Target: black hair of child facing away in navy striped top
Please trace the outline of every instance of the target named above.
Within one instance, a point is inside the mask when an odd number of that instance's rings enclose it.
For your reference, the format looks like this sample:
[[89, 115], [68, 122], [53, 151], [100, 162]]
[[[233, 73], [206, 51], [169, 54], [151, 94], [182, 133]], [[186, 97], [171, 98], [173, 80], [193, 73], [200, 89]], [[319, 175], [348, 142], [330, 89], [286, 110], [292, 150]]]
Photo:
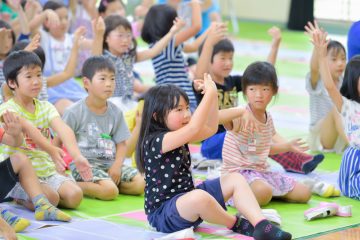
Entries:
[[155, 43], [170, 31], [176, 17], [176, 10], [167, 4], [152, 6], [145, 16], [141, 38], [148, 44]]

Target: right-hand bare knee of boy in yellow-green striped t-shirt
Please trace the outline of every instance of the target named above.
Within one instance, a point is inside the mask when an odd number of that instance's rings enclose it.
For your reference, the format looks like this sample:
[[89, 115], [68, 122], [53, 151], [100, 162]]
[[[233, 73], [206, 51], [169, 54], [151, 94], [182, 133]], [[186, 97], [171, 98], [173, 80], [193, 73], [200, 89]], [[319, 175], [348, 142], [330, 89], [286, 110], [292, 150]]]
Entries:
[[83, 192], [76, 183], [65, 181], [61, 184], [58, 193], [60, 195], [59, 205], [65, 208], [77, 208], [83, 198]]

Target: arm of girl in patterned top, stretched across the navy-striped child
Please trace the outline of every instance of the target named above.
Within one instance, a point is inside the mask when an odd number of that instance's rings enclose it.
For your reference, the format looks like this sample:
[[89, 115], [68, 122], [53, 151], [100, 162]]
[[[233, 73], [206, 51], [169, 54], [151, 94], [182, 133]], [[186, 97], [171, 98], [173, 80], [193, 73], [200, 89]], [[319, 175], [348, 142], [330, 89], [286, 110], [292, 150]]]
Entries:
[[180, 31], [180, 29], [185, 25], [185, 22], [179, 18], [174, 20], [174, 25], [171, 27], [170, 31], [162, 37], [156, 44], [147, 50], [140, 51], [136, 53], [136, 62], [145, 61], [147, 59], [151, 59], [156, 57], [161, 53], [161, 51], [166, 48], [174, 35]]

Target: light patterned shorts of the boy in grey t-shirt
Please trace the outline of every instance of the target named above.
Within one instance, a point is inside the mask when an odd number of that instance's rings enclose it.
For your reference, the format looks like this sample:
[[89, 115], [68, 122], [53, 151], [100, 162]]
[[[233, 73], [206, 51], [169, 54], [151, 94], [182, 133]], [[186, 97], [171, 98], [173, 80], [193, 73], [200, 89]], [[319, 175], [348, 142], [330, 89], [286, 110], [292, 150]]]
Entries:
[[[75, 181], [83, 182], [79, 172], [76, 170], [74, 164], [70, 164], [71, 175], [74, 177]], [[92, 167], [93, 179], [92, 182], [98, 182], [100, 180], [111, 179], [107, 170], [100, 167]], [[131, 180], [138, 174], [138, 170], [133, 167], [122, 165], [121, 167], [121, 182], [131, 182]]]

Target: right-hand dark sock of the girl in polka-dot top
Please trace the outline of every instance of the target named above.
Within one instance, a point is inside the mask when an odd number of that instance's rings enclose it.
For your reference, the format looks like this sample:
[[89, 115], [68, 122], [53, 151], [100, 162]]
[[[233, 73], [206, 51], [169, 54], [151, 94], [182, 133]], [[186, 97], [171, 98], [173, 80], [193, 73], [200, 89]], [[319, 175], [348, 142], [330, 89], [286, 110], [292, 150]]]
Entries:
[[264, 219], [258, 224], [256, 224], [253, 238], [255, 240], [290, 240], [291, 234], [282, 231], [280, 228], [276, 227], [268, 220]]

